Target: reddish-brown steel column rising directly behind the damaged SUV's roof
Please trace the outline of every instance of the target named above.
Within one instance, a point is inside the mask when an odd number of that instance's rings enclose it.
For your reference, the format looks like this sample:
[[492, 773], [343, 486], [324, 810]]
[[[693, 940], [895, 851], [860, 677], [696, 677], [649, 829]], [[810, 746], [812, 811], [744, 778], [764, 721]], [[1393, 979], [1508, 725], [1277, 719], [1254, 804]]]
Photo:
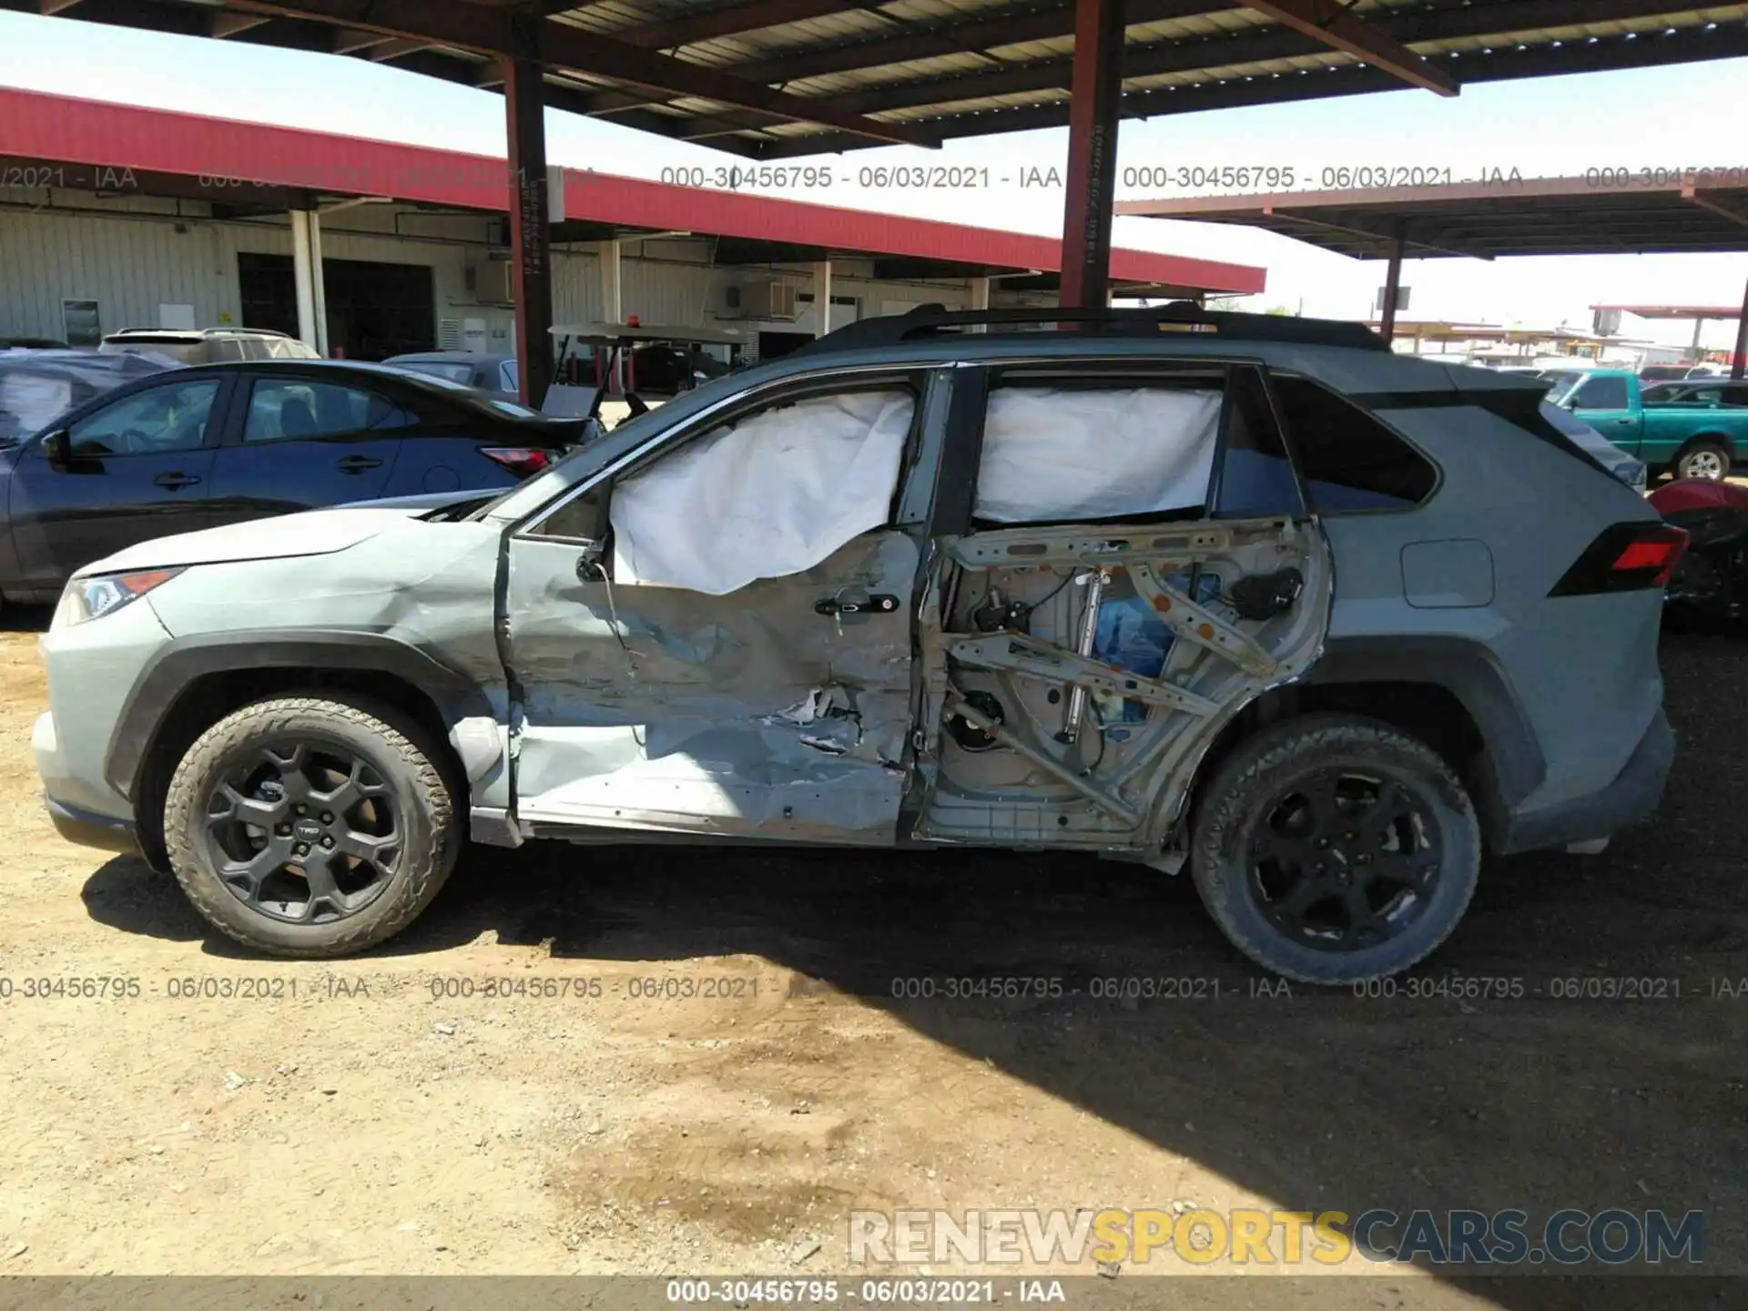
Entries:
[[1073, 101], [1068, 108], [1068, 196], [1058, 304], [1101, 309], [1110, 285], [1110, 218], [1117, 182], [1124, 0], [1075, 0]]

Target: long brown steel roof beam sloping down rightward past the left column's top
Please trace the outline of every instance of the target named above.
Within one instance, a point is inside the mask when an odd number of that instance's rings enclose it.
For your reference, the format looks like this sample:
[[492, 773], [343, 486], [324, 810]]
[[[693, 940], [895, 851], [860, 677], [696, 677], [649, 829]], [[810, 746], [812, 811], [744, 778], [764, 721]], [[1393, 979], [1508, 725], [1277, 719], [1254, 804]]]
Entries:
[[519, 19], [524, 16], [481, 3], [437, 7], [423, 3], [423, 0], [288, 0], [287, 3], [243, 0], [234, 7], [248, 12], [337, 23], [493, 56], [526, 56], [528, 37], [531, 37], [538, 45], [540, 58], [554, 68], [605, 77], [669, 96], [715, 100], [736, 108], [769, 114], [774, 119], [815, 122], [862, 140], [926, 147], [940, 143], [933, 133], [923, 128], [843, 114], [825, 96], [792, 96], [760, 82], [563, 23], [533, 19], [537, 26], [523, 24]]

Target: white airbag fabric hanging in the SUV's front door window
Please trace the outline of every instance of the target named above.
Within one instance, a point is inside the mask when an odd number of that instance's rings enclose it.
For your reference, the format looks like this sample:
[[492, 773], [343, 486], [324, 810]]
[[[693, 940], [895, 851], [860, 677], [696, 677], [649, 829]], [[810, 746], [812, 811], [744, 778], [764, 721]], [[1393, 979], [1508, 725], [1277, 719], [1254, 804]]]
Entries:
[[614, 488], [614, 580], [722, 596], [813, 568], [886, 523], [909, 392], [799, 400]]

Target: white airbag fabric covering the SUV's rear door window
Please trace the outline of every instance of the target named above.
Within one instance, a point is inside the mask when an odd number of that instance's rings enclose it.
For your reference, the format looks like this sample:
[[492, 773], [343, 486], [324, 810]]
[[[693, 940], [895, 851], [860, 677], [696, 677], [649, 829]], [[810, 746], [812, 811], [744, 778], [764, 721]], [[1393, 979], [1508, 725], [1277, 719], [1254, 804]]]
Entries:
[[996, 388], [975, 517], [1075, 523], [1201, 505], [1218, 432], [1218, 392]]

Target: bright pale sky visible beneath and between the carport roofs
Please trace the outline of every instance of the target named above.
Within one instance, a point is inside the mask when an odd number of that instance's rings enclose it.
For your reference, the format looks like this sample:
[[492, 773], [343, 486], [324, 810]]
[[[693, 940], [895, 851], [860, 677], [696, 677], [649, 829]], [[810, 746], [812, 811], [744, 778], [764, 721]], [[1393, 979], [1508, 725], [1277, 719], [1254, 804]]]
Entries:
[[[77, 10], [70, 10], [77, 12]], [[0, 86], [154, 108], [374, 136], [477, 154], [503, 154], [503, 101], [488, 91], [420, 77], [367, 59], [280, 51], [243, 42], [0, 12]], [[1313, 100], [1294, 105], [1180, 114], [1122, 124], [1119, 199], [1189, 194], [1133, 185], [1124, 173], [1225, 164], [1292, 166], [1316, 177], [1339, 166], [1421, 166], [1458, 178], [1519, 170], [1523, 177], [1582, 175], [1585, 168], [1743, 168], [1741, 115], [1748, 59], [1613, 73], [1493, 82], [1442, 98], [1426, 91]], [[988, 189], [919, 192], [862, 189], [864, 168], [958, 164], [993, 178], [1066, 164], [1066, 129], [949, 142], [942, 150], [883, 147], [836, 161], [851, 185], [785, 192], [797, 199], [886, 213], [1059, 234], [1061, 185], [991, 182]], [[662, 178], [662, 170], [745, 166], [746, 161], [617, 124], [547, 110], [547, 156], [568, 168]], [[785, 161], [808, 163], [808, 161]], [[1301, 182], [1301, 187], [1304, 184]], [[1211, 194], [1206, 189], [1203, 194]], [[1308, 315], [1370, 313], [1383, 264], [1349, 260], [1273, 232], [1119, 217], [1115, 241], [1269, 271], [1269, 288], [1246, 309], [1285, 306]], [[1585, 255], [1503, 260], [1409, 260], [1405, 318], [1589, 327], [1591, 306], [1718, 304], [1743, 301], [1748, 255]], [[1641, 341], [1687, 344], [1690, 323], [1627, 318]], [[1727, 348], [1732, 323], [1710, 323], [1708, 346]]]

